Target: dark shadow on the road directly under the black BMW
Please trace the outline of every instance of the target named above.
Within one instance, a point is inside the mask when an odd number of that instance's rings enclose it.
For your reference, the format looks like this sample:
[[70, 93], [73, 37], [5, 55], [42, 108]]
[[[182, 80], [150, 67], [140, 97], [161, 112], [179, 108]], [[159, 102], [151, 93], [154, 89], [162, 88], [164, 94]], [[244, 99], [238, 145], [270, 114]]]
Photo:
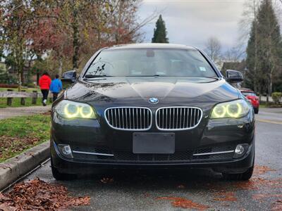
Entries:
[[100, 170], [97, 174], [80, 175], [75, 181], [96, 185], [111, 184], [112, 188], [148, 187], [169, 188], [200, 188], [207, 184], [224, 182], [220, 173], [207, 169], [189, 170]]

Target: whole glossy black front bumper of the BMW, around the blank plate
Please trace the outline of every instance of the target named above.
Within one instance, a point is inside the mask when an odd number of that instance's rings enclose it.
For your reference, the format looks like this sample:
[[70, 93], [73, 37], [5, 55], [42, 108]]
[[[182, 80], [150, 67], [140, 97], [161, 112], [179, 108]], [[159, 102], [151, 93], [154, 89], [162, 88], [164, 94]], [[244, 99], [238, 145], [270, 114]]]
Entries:
[[[148, 132], [159, 132], [152, 127]], [[102, 121], [66, 121], [53, 115], [51, 130], [51, 159], [61, 173], [90, 173], [96, 168], [149, 167], [209, 167], [219, 172], [245, 172], [253, 165], [255, 156], [255, 124], [253, 113], [233, 120], [208, 120], [187, 131], [176, 134], [176, 152], [163, 154], [134, 154], [133, 132], [109, 129]], [[232, 151], [239, 143], [249, 144], [241, 158], [234, 153], [198, 155]], [[68, 144], [73, 151], [113, 154], [112, 157], [73, 153], [64, 157], [58, 144]]]

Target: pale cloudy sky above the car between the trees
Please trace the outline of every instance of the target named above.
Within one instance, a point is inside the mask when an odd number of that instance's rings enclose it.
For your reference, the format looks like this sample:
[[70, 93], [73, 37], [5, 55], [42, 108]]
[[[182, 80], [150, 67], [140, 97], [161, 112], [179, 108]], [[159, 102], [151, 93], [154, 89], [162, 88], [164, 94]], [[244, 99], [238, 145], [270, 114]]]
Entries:
[[[204, 49], [209, 37], [221, 41], [222, 50], [236, 46], [239, 39], [238, 22], [245, 0], [144, 0], [140, 6], [141, 19], [157, 11], [166, 23], [168, 39], [173, 44], [185, 44]], [[151, 42], [155, 21], [142, 28], [143, 42]]]

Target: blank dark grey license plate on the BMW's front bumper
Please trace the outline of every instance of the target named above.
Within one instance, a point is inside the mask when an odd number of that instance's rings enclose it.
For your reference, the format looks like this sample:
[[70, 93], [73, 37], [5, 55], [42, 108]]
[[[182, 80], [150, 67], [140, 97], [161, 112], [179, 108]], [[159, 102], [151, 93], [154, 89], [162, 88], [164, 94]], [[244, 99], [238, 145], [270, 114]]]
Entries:
[[133, 153], [172, 154], [174, 151], [173, 133], [133, 133]]

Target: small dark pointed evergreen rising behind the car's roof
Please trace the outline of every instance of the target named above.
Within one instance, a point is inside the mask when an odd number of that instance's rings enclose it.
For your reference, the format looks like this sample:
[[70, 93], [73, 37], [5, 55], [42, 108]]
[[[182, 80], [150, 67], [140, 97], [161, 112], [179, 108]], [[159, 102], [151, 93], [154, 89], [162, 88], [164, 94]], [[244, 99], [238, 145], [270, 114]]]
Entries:
[[161, 15], [159, 15], [156, 28], [154, 28], [154, 37], [152, 38], [152, 43], [168, 43], [168, 38], [166, 35], [166, 25], [164, 20], [161, 18]]

